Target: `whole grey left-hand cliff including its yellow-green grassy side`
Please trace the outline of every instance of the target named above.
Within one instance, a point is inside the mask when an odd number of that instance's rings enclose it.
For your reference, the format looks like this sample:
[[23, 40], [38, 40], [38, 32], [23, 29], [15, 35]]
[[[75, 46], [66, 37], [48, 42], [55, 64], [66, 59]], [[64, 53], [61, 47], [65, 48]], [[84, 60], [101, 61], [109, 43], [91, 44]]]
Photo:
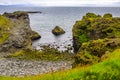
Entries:
[[20, 49], [32, 48], [32, 40], [40, 38], [40, 35], [32, 31], [29, 21], [26, 12], [17, 11], [0, 15], [1, 56], [9, 55]]

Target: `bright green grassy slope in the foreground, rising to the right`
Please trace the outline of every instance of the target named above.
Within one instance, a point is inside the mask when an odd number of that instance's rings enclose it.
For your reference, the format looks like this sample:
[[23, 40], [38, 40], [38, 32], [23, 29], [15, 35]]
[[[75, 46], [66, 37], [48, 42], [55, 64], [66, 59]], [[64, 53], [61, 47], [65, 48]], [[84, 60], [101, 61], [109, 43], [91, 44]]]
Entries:
[[120, 49], [107, 57], [103, 62], [91, 66], [22, 78], [1, 76], [0, 80], [120, 80]]

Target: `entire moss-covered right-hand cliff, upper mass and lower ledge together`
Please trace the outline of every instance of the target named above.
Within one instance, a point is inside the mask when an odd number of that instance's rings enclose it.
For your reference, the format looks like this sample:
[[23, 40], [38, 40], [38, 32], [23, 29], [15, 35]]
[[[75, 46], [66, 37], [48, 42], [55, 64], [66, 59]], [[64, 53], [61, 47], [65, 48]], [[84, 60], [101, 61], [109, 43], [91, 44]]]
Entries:
[[112, 14], [87, 13], [73, 26], [75, 63], [93, 64], [120, 48], [120, 18]]

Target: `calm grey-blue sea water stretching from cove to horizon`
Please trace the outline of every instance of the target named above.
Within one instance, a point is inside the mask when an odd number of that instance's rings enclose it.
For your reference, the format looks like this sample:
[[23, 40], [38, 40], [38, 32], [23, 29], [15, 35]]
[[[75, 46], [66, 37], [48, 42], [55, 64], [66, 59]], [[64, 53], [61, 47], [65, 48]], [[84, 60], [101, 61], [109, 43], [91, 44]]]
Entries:
[[[53, 44], [65, 50], [64, 46], [72, 45], [72, 27], [75, 21], [80, 20], [88, 12], [103, 15], [111, 13], [120, 16], [120, 7], [0, 7], [0, 13], [14, 11], [41, 11], [42, 13], [29, 14], [30, 25], [42, 38], [33, 42], [33, 47]], [[56, 26], [65, 30], [65, 34], [54, 36], [51, 31]]]

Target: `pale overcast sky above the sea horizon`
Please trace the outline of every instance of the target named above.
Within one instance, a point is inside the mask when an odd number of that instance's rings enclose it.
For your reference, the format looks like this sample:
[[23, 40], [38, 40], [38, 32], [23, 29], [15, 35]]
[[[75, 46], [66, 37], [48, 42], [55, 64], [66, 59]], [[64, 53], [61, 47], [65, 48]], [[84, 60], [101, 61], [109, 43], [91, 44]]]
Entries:
[[120, 0], [0, 0], [0, 5], [33, 4], [37, 6], [120, 6]]

